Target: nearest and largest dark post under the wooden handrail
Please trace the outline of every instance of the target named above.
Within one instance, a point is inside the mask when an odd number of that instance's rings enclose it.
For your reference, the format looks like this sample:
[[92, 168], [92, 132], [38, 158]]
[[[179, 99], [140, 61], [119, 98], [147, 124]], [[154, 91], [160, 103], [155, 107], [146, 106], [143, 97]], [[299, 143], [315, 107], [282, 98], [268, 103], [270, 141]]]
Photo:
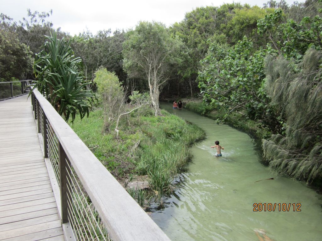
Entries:
[[59, 142], [59, 183], [61, 191], [61, 205], [62, 205], [62, 224], [68, 223], [68, 187], [67, 187], [67, 162], [65, 150]]

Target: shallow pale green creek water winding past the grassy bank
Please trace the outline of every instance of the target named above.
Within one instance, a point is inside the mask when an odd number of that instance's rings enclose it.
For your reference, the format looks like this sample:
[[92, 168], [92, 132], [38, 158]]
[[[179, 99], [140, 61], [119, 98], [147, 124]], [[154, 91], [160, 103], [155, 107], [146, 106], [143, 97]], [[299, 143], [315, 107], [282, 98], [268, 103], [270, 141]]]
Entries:
[[[175, 191], [164, 198], [164, 208], [151, 207], [151, 218], [171, 240], [259, 240], [255, 228], [266, 230], [274, 241], [322, 240], [321, 195], [262, 165], [254, 139], [246, 133], [185, 109], [173, 110], [169, 103], [161, 105], [207, 135], [192, 147], [192, 163], [175, 178]], [[222, 157], [210, 148], [215, 140], [224, 147]], [[290, 211], [278, 211], [278, 206], [253, 211], [253, 203], [300, 203], [301, 211], [293, 206]]]

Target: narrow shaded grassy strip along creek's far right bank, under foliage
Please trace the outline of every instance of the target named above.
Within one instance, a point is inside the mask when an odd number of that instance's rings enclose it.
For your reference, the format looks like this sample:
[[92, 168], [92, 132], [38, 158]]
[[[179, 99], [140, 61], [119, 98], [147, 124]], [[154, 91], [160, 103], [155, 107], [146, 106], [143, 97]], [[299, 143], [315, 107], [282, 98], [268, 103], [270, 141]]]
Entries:
[[186, 99], [184, 100], [184, 103], [185, 107], [191, 111], [208, 116], [214, 120], [224, 120], [223, 123], [229, 124], [237, 129], [247, 131], [258, 139], [268, 138], [271, 135], [269, 129], [264, 127], [259, 122], [245, 118], [245, 116], [242, 115], [242, 113], [232, 112], [227, 117], [225, 117], [225, 115], [228, 113], [226, 110], [213, 110], [200, 100]]

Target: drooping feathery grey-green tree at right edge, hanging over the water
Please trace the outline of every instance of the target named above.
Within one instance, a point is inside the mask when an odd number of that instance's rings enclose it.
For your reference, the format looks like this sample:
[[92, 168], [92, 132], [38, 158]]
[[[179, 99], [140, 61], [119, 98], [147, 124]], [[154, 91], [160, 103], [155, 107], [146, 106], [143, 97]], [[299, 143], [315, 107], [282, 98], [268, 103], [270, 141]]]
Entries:
[[308, 49], [298, 64], [282, 56], [265, 59], [266, 89], [281, 113], [284, 132], [263, 140], [264, 158], [280, 172], [308, 182], [322, 176], [321, 56], [320, 50]]

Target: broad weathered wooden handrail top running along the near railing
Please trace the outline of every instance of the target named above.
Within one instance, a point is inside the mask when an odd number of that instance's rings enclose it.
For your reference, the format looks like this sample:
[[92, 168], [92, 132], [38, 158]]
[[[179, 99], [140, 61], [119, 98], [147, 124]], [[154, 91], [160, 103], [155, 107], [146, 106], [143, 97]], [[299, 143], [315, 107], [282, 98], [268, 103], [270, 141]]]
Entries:
[[[33, 94], [110, 237], [116, 241], [170, 240], [94, 156], [43, 95], [38, 90], [33, 90]], [[62, 210], [66, 209], [64, 205], [67, 203], [62, 202]]]

